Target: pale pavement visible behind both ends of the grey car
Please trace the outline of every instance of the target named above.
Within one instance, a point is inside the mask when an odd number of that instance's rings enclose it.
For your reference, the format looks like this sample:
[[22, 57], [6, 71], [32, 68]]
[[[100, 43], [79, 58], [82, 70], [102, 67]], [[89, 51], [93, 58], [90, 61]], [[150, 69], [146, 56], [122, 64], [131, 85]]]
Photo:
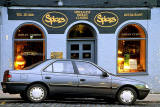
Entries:
[[[19, 98], [21, 98], [19, 94], [3, 93], [2, 90], [0, 90], [0, 100], [19, 99]], [[151, 93], [144, 100], [137, 100], [137, 101], [160, 103], [160, 94]]]

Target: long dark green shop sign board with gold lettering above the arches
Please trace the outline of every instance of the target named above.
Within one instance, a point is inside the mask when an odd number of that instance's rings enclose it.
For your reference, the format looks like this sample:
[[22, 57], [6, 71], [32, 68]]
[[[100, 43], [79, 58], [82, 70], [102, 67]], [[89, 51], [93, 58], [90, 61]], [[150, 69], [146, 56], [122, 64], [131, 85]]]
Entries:
[[125, 21], [149, 20], [150, 18], [150, 9], [8, 9], [9, 20], [37, 21], [46, 28], [49, 34], [63, 34], [70, 24], [80, 20], [93, 23], [101, 34], [114, 33], [117, 27]]

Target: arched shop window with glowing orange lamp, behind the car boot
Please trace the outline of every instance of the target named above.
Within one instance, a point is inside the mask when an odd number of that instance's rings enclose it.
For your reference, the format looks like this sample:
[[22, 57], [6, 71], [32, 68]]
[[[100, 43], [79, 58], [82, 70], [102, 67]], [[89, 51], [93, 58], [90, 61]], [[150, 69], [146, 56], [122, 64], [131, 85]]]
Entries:
[[21, 70], [45, 60], [43, 32], [35, 25], [20, 27], [14, 39], [14, 69]]

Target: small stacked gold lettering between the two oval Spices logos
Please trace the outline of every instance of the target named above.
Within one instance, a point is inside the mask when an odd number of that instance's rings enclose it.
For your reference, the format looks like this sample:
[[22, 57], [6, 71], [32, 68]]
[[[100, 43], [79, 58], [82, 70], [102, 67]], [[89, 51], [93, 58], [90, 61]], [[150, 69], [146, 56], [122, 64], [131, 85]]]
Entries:
[[76, 10], [76, 11], [74, 11], [74, 13], [76, 14], [76, 19], [88, 19], [88, 15], [91, 13], [91, 11]]

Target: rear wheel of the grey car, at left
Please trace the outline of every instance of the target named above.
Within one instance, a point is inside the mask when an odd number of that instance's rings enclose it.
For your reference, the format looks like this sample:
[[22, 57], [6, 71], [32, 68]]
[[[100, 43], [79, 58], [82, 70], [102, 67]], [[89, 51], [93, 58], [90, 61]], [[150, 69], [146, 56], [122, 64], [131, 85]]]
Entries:
[[38, 103], [45, 100], [47, 97], [47, 89], [41, 84], [34, 84], [27, 90], [27, 98], [29, 101]]

